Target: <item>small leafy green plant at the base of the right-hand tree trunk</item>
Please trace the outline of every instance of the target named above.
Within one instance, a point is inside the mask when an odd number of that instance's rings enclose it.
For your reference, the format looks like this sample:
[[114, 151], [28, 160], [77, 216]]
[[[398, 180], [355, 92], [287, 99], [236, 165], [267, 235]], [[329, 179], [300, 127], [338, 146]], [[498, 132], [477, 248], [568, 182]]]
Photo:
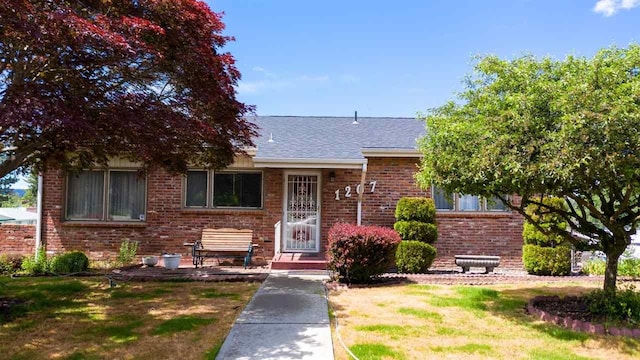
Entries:
[[595, 290], [585, 296], [589, 311], [607, 322], [640, 324], [640, 293], [633, 285], [615, 293]]

